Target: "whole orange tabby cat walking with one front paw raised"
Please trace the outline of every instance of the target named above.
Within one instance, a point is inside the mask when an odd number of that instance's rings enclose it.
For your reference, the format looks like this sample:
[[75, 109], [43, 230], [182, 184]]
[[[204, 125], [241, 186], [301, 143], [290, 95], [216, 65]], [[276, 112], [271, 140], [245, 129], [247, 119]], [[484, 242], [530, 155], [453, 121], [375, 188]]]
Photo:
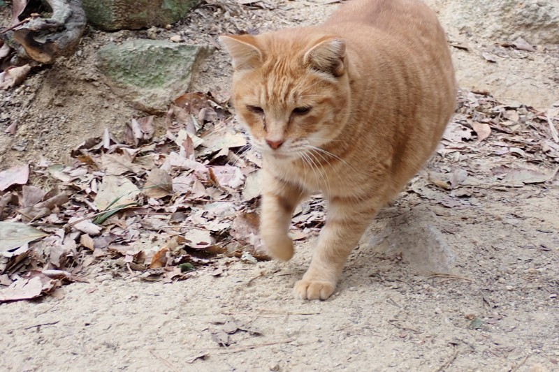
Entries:
[[263, 157], [261, 238], [289, 260], [291, 215], [322, 191], [326, 225], [293, 288], [327, 299], [379, 208], [433, 153], [455, 107], [444, 31], [420, 0], [350, 0], [324, 24], [222, 36], [238, 117]]

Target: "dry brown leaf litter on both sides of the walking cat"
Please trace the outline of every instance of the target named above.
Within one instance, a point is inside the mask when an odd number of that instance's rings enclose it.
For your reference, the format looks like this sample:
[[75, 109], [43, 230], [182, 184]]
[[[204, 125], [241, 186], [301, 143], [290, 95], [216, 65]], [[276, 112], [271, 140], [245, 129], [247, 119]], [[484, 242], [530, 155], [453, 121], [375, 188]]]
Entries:
[[[228, 260], [215, 276], [235, 260], [267, 260], [256, 213], [261, 158], [235, 131], [224, 101], [187, 93], [170, 105], [162, 131], [153, 117], [138, 118], [122, 142], [106, 131], [85, 139], [68, 163], [0, 172], [0, 236], [9, 236], [0, 239], [0, 302], [50, 294], [94, 266], [172, 282], [221, 257]], [[407, 193], [464, 209], [479, 207], [488, 188], [557, 185], [559, 144], [549, 123], [558, 119], [553, 109], [460, 91], [439, 156]], [[303, 202], [291, 237], [316, 235], [325, 210], [321, 195]], [[64, 275], [44, 274], [53, 270]], [[224, 334], [216, 336], [222, 345]]]

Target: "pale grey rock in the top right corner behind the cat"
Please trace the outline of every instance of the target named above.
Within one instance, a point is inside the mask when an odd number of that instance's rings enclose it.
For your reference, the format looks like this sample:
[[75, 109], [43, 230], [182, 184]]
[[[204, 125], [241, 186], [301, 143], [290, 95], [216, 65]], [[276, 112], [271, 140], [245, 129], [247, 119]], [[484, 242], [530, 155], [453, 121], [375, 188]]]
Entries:
[[488, 40], [511, 42], [522, 37], [529, 43], [559, 43], [557, 0], [438, 0], [444, 24]]

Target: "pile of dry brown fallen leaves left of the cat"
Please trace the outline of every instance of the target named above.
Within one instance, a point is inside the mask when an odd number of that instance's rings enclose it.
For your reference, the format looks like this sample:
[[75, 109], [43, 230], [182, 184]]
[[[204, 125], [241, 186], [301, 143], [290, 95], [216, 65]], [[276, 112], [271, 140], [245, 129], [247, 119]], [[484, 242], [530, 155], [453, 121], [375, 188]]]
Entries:
[[[184, 94], [163, 137], [143, 117], [122, 142], [108, 131], [86, 140], [69, 164], [0, 172], [0, 302], [50, 292], [102, 260], [122, 276], [175, 281], [215, 255], [266, 259], [255, 213], [261, 159], [226, 101]], [[324, 220], [314, 204], [298, 210], [295, 239]]]

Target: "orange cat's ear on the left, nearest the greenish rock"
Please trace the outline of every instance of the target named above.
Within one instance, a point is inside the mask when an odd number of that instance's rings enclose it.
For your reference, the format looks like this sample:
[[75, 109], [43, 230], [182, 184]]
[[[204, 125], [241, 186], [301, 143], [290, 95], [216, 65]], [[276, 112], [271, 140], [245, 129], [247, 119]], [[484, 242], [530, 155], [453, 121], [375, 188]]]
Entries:
[[262, 63], [262, 51], [254, 36], [223, 35], [219, 36], [219, 41], [231, 54], [235, 70], [256, 68]]

